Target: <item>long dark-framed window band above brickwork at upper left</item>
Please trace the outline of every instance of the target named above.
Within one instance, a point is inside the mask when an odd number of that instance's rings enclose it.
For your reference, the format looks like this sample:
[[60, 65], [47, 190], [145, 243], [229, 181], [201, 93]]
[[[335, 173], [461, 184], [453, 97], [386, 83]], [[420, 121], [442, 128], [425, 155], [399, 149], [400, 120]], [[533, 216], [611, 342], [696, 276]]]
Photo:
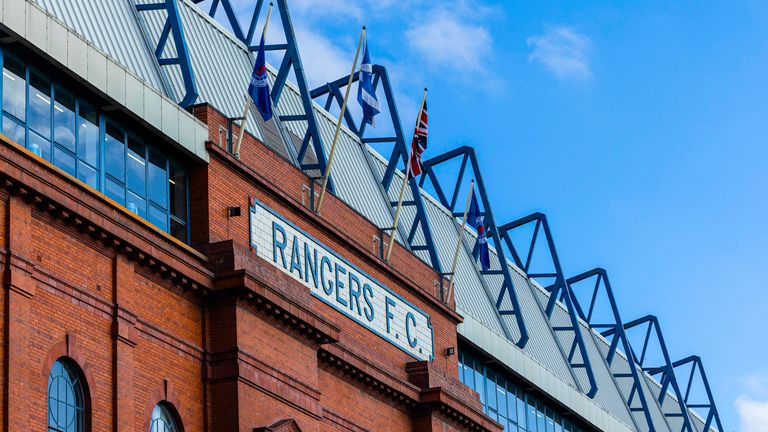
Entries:
[[118, 123], [56, 76], [7, 51], [0, 132], [183, 242], [186, 168]]

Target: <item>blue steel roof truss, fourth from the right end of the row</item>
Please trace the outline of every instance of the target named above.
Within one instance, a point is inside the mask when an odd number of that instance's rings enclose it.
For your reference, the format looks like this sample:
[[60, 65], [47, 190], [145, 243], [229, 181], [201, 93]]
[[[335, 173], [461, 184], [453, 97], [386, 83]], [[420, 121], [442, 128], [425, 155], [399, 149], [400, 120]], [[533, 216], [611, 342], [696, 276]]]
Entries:
[[[535, 223], [535, 226], [533, 229], [533, 236], [531, 237], [531, 244], [528, 248], [528, 255], [525, 262], [523, 262], [520, 258], [520, 254], [518, 254], [517, 249], [515, 248], [510, 234], [513, 230], [527, 226], [530, 223]], [[538, 244], [537, 240], [539, 238], [539, 232], [542, 228], [546, 238], [553, 271], [549, 273], [531, 273], [531, 262], [534, 256], [535, 247]], [[547, 306], [545, 308], [545, 314], [549, 319], [550, 325], [552, 325], [552, 330], [557, 335], [555, 340], [559, 345], [561, 345], [561, 348], [562, 342], [560, 340], [560, 335], [562, 333], [568, 332], [573, 333], [573, 342], [571, 343], [571, 348], [568, 350], [568, 364], [571, 366], [571, 369], [584, 370], [587, 375], [587, 382], [589, 387], [586, 390], [582, 388], [582, 390], [587, 396], [595, 397], [597, 394], [597, 380], [595, 380], [595, 373], [592, 370], [592, 364], [589, 361], [589, 355], [587, 355], [587, 346], [584, 343], [584, 336], [582, 335], [581, 328], [579, 327], [577, 310], [574, 307], [575, 296], [573, 295], [573, 291], [571, 290], [571, 287], [563, 274], [563, 269], [560, 265], [560, 259], [558, 258], [557, 250], [555, 249], [555, 242], [552, 239], [552, 232], [550, 231], [549, 224], [547, 223], [547, 217], [543, 213], [533, 213], [516, 221], [512, 221], [500, 226], [499, 235], [504, 239], [507, 247], [509, 248], [509, 251], [512, 253], [512, 258], [515, 260], [515, 264], [517, 264], [517, 266], [520, 267], [525, 272], [525, 274], [528, 275], [529, 278], [535, 280], [554, 278], [554, 282], [546, 287], [547, 291], [549, 291], [549, 301], [547, 302]], [[558, 326], [554, 325], [552, 322], [552, 316], [557, 300], [562, 301], [568, 309], [570, 325]], [[580, 358], [576, 357], [577, 350]], [[579, 387], [582, 387], [579, 380], [576, 380], [576, 383], [579, 385]]]

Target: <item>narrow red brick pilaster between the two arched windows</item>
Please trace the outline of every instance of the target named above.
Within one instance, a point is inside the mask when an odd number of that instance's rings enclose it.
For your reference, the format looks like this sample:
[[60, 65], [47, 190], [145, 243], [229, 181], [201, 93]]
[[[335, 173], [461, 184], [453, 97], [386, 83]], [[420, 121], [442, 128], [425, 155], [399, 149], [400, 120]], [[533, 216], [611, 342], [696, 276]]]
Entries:
[[114, 315], [112, 338], [115, 344], [114, 367], [114, 430], [136, 430], [136, 409], [134, 405], [134, 349], [136, 347], [136, 315], [134, 310], [133, 287], [134, 264], [125, 255], [117, 254], [114, 259]]

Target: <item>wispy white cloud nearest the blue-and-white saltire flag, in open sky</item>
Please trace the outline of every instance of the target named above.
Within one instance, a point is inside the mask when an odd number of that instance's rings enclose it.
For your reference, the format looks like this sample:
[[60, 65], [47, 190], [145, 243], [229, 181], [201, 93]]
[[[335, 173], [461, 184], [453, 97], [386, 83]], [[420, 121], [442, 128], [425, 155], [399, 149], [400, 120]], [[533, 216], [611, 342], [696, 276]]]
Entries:
[[437, 11], [405, 33], [411, 48], [434, 66], [447, 66], [461, 74], [485, 70], [491, 35], [480, 25], [462, 22], [447, 11]]

